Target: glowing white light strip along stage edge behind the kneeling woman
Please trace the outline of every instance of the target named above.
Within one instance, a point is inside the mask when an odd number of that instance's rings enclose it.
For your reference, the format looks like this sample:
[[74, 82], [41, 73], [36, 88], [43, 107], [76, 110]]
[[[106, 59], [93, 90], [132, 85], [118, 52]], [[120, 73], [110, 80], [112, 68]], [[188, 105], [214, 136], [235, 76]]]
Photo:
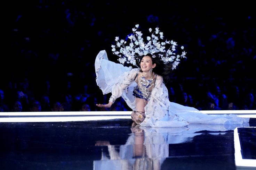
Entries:
[[[256, 110], [202, 110], [205, 114], [237, 114], [239, 117], [256, 118]], [[131, 111], [91, 112], [2, 112], [0, 122], [59, 122], [131, 119]]]

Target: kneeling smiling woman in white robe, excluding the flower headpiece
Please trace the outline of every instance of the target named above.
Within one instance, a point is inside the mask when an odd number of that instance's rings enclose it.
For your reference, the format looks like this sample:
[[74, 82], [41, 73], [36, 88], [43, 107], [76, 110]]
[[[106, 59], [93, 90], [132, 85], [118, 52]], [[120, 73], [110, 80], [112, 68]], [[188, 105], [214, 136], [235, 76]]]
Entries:
[[[111, 92], [112, 95], [109, 103], [96, 105], [102, 108], [110, 108], [115, 100], [122, 96], [127, 105], [133, 110], [133, 120], [141, 126], [183, 127], [189, 125], [189, 123], [248, 123], [248, 118], [240, 118], [237, 115], [210, 116], [195, 108], [169, 102], [164, 78], [167, 78], [169, 74], [168, 71], [165, 72], [165, 69], [170, 66], [162, 65], [159, 58], [153, 58], [151, 54], [143, 56], [140, 65], [141, 69], [125, 67], [109, 61], [106, 51], [99, 52], [95, 61], [96, 81], [103, 94]], [[161, 69], [162, 72], [159, 71]], [[117, 71], [113, 72], [113, 70]], [[155, 73], [158, 71], [163, 76]], [[143, 118], [140, 119], [140, 115]], [[140, 120], [141, 123], [136, 120]]]

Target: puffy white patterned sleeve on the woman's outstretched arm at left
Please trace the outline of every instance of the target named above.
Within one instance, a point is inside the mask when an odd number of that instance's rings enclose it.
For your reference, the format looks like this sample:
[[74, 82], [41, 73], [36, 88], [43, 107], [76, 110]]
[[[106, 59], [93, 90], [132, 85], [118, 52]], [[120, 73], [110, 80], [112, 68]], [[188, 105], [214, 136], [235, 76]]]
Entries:
[[114, 103], [115, 100], [118, 97], [121, 97], [123, 92], [127, 90], [127, 87], [130, 86], [131, 83], [134, 83], [137, 75], [137, 70], [138, 69], [132, 69], [131, 71], [127, 71], [123, 73], [121, 76], [119, 76], [119, 78], [117, 79], [117, 81], [112, 87], [112, 90], [111, 90], [112, 95], [109, 99], [110, 102]]

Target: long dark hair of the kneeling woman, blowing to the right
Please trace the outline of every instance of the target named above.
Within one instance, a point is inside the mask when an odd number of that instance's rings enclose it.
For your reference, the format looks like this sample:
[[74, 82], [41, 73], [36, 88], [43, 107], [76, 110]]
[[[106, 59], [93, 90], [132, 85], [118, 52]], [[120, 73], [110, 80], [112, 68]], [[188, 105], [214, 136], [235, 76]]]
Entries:
[[154, 53], [154, 56], [156, 56], [156, 57], [153, 57], [153, 55], [151, 53], [143, 55], [143, 56], [141, 56], [139, 61], [141, 61], [141, 59], [144, 56], [149, 56], [152, 59], [152, 63], [153, 64], [155, 63], [156, 66], [155, 66], [155, 68], [153, 68], [154, 73], [162, 76], [163, 77], [163, 82], [165, 84], [169, 83], [169, 81], [170, 81], [169, 75], [172, 72], [173, 64], [171, 62], [163, 63], [163, 61], [159, 57], [158, 53]]

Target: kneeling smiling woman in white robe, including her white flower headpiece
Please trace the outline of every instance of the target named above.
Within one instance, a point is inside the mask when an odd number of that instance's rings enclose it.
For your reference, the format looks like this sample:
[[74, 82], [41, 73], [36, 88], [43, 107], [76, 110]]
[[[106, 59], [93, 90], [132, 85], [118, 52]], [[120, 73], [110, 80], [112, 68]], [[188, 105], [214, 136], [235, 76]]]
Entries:
[[[136, 27], [138, 28], [138, 25]], [[171, 70], [185, 57], [186, 52], [177, 55], [176, 42], [159, 42], [163, 34], [158, 28], [155, 30], [151, 38], [147, 37], [147, 44], [141, 37], [142, 33], [134, 28], [135, 34], [129, 36], [131, 43], [128, 46], [124, 40], [119, 42], [118, 37], [117, 46], [112, 46], [112, 51], [120, 57], [121, 63], [139, 63], [139, 68], [132, 69], [109, 61], [104, 50], [98, 53], [95, 60], [97, 85], [103, 94], [112, 93], [109, 103], [96, 104], [98, 107], [109, 108], [115, 99], [122, 96], [133, 110], [133, 120], [141, 126], [151, 127], [183, 127], [190, 123], [243, 124], [249, 121], [236, 115], [209, 116], [195, 108], [169, 102], [168, 90], [164, 83], [168, 80]], [[171, 47], [165, 49], [166, 44], [171, 44]], [[116, 48], [120, 50], [116, 51]], [[181, 49], [183, 50], [183, 47]]]

